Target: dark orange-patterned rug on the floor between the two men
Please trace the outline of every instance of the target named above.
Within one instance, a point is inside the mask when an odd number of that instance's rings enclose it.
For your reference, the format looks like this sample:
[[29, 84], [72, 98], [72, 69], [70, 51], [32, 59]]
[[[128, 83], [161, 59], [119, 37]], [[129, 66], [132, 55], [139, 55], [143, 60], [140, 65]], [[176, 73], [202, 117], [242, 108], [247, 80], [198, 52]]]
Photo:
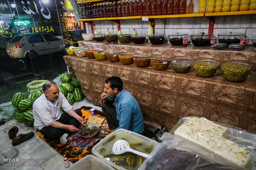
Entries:
[[[90, 115], [88, 113], [89, 107], [81, 108], [81, 112], [83, 113], [83, 117], [85, 119], [89, 119], [89, 117], [97, 117], [97, 118], [104, 118], [104, 124], [107, 124], [107, 120], [105, 117], [102, 116], [102, 112], [95, 110], [95, 115]], [[82, 129], [83, 126], [80, 125], [78, 129]], [[105, 138], [109, 133], [113, 130], [110, 130], [107, 126], [100, 127], [100, 131], [103, 130], [104, 133], [99, 132], [95, 138], [92, 139], [83, 139], [79, 135], [79, 131], [69, 135], [67, 140], [68, 142], [66, 145], [60, 143], [59, 139], [52, 140], [45, 137], [40, 131], [36, 131], [38, 136], [47, 142], [53, 149], [55, 149], [59, 154], [63, 157], [67, 157], [69, 161], [75, 163], [76, 161], [82, 159], [84, 156], [92, 154], [92, 147], [94, 147], [100, 140]]]

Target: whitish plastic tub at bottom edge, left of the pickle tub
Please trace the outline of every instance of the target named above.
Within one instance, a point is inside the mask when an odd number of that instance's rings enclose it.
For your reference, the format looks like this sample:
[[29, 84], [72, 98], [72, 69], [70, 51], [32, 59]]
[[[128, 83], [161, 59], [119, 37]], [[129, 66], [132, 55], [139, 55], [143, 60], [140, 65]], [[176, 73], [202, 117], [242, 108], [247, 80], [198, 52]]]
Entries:
[[68, 170], [114, 170], [114, 168], [96, 156], [87, 155], [71, 165]]

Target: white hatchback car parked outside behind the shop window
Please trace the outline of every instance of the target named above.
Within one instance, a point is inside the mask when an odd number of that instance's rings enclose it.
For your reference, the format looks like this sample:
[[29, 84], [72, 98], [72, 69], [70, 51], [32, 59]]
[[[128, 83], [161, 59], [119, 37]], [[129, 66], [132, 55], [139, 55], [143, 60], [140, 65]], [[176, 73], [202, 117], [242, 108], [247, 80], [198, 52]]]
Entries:
[[27, 33], [13, 37], [7, 44], [7, 54], [13, 58], [46, 55], [64, 51], [68, 46], [66, 40], [59, 39], [47, 33]]

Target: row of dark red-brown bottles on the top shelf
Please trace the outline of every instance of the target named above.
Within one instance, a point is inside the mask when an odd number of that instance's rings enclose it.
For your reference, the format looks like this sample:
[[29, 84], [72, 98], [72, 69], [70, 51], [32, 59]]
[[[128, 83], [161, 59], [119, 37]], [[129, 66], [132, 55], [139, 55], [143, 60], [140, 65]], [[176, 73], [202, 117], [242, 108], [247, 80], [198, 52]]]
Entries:
[[82, 18], [123, 17], [123, 16], [156, 16], [186, 13], [187, 0], [123, 0], [107, 2], [100, 5], [80, 5]]

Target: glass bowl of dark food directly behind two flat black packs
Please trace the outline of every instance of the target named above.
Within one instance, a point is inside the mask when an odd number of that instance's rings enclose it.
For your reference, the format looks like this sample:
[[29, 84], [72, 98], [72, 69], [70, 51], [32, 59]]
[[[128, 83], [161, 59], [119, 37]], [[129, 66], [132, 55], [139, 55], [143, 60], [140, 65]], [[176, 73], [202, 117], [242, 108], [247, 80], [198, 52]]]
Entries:
[[227, 32], [227, 33], [220, 33], [218, 34], [218, 41], [220, 43], [240, 43], [240, 39], [244, 37], [243, 33], [234, 33], [234, 32]]

